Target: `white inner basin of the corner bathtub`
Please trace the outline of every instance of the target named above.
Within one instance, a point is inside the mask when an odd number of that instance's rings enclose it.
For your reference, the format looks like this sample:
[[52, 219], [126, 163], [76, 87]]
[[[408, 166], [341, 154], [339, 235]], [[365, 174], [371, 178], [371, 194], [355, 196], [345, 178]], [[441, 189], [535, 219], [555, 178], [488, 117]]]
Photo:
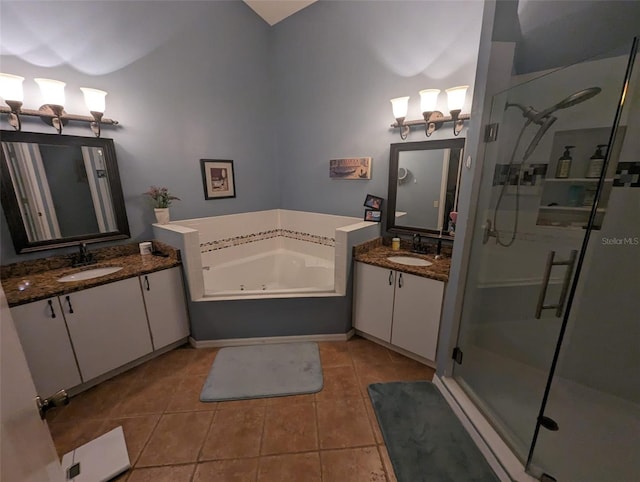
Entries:
[[334, 269], [333, 260], [275, 249], [217, 266], [203, 266], [204, 294], [227, 300], [332, 295]]

